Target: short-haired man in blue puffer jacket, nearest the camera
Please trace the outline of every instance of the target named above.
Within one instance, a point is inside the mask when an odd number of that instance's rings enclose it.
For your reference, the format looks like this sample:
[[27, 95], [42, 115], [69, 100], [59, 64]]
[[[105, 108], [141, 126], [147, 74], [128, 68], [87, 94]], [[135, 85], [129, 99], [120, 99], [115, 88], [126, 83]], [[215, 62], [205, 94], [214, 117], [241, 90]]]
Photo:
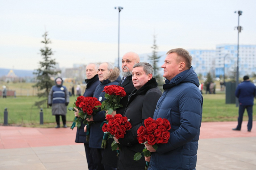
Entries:
[[158, 100], [154, 119], [170, 121], [170, 139], [152, 152], [148, 170], [195, 170], [198, 139], [202, 119], [203, 97], [197, 74], [191, 67], [192, 57], [182, 48], [167, 52], [162, 68], [166, 84]]

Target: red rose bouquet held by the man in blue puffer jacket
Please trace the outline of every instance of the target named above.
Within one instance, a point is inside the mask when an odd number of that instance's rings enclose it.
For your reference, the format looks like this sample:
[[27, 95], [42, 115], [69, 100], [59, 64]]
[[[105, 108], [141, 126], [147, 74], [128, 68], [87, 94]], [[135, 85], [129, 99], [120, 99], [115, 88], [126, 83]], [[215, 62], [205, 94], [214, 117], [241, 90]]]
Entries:
[[[158, 145], [161, 143], [167, 143], [170, 138], [171, 129], [170, 122], [165, 118], [157, 118], [156, 120], [152, 118], [147, 118], [144, 120], [144, 126], [139, 127], [137, 130], [137, 139], [139, 143], [148, 143], [152, 145], [155, 150], [157, 150]], [[142, 153], [145, 157], [151, 155], [151, 152], [148, 151], [145, 147]], [[139, 160], [142, 157], [142, 153], [136, 153], [133, 157], [133, 160]], [[148, 169], [149, 162], [146, 163], [145, 170]]]

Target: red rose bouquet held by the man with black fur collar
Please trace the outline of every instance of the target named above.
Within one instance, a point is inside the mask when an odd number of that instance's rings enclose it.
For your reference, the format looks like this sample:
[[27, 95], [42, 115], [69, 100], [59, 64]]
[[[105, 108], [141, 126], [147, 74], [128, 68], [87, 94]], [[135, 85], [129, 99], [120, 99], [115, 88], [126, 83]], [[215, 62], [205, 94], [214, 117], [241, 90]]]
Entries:
[[[127, 119], [126, 116], [122, 116], [121, 114], [116, 114], [114, 117], [112, 115], [107, 114], [106, 115], [106, 120], [107, 122], [103, 124], [102, 126], [102, 131], [104, 132], [104, 135], [106, 134], [107, 136], [103, 136], [103, 140], [101, 143], [101, 148], [106, 147], [106, 141], [108, 138], [112, 138], [115, 135], [117, 139], [123, 138], [124, 134], [126, 134], [126, 130], [130, 130], [132, 125], [129, 122], [130, 119]], [[117, 148], [120, 148], [120, 145], [114, 141], [111, 144], [112, 151], [117, 150]]]

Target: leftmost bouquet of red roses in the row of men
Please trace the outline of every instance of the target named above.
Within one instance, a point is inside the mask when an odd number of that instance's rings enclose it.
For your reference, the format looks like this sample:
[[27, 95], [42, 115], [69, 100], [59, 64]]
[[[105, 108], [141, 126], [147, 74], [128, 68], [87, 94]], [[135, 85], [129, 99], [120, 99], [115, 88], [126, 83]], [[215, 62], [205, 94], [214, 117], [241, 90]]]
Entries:
[[[97, 107], [96, 107], [97, 106]], [[94, 115], [96, 112], [98, 112], [99, 108], [101, 106], [100, 101], [98, 101], [97, 98], [95, 97], [84, 97], [84, 96], [79, 96], [76, 99], [76, 102], [73, 104], [73, 107], [76, 107], [79, 111], [78, 115], [80, 117], [74, 118], [74, 122], [70, 129], [73, 130], [73, 128], [76, 126], [77, 123], [77, 128], [80, 128], [81, 122], [83, 121], [84, 124], [87, 124], [87, 136], [86, 140], [89, 141], [89, 133], [90, 133], [90, 124], [91, 122], [87, 122], [86, 118], [91, 118], [91, 115]], [[68, 108], [68, 110], [73, 110], [72, 107]]]

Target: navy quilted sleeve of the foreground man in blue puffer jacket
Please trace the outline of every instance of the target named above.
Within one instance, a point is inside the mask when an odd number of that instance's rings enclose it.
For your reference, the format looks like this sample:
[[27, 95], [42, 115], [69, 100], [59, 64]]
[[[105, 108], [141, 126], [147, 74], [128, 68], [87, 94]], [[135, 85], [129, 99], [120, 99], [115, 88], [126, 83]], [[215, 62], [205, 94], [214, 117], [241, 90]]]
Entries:
[[203, 105], [201, 94], [199, 95], [195, 88], [186, 88], [179, 98], [180, 122], [176, 123], [180, 124], [180, 127], [170, 133], [167, 144], [158, 145], [156, 152], [159, 154], [165, 154], [185, 145], [196, 135], [199, 137]]

